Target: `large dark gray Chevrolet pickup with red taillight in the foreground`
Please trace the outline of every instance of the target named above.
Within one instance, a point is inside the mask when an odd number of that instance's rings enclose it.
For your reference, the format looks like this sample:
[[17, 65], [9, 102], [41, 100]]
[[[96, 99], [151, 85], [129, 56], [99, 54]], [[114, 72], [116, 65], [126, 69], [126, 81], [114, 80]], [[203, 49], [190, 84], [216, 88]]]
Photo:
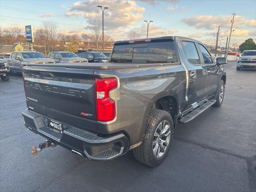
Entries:
[[221, 106], [226, 63], [215, 62], [199, 41], [170, 36], [118, 41], [109, 63], [28, 64], [24, 124], [47, 139], [32, 154], [58, 144], [110, 160], [133, 150], [138, 161], [156, 166], [177, 123]]

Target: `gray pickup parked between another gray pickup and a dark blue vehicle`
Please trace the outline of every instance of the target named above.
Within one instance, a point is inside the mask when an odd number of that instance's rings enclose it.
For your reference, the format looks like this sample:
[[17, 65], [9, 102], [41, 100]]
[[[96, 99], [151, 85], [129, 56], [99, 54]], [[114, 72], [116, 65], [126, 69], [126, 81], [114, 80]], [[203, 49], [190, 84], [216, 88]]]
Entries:
[[72, 52], [50, 52], [49, 58], [54, 59], [56, 63], [88, 63], [86, 58], [80, 58]]

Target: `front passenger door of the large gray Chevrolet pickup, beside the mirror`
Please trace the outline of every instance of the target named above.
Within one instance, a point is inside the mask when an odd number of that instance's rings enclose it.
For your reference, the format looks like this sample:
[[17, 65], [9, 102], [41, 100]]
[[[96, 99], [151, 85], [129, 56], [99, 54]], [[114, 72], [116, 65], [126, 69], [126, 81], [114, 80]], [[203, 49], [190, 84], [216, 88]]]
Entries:
[[206, 94], [207, 97], [216, 94], [219, 84], [219, 76], [217, 73], [218, 66], [216, 65], [214, 59], [208, 50], [200, 43], [198, 43], [198, 48], [202, 59], [204, 60], [204, 66], [207, 72], [207, 83], [206, 83]]

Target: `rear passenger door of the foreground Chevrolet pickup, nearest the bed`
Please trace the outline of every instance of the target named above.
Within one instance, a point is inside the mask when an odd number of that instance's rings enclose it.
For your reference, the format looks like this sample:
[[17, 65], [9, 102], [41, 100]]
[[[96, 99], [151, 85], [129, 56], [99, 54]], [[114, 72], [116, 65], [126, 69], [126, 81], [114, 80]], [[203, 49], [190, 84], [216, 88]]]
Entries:
[[196, 42], [193, 40], [180, 40], [186, 56], [186, 67], [188, 69], [188, 107], [196, 106], [206, 98], [207, 74], [202, 64]]

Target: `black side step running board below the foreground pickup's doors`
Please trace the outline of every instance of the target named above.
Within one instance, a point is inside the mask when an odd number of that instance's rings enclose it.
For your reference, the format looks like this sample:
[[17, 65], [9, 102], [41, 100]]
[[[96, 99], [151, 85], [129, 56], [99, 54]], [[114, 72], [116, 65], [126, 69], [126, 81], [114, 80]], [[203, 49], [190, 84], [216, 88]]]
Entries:
[[196, 118], [198, 115], [200, 115], [202, 112], [204, 112], [206, 109], [210, 108], [210, 106], [212, 106], [215, 102], [216, 102], [216, 100], [212, 99], [212, 100], [209, 100], [208, 102], [206, 102], [205, 104], [202, 104], [200, 107], [196, 108], [189, 114], [186, 114], [185, 116], [183, 116], [180, 119], [180, 123], [185, 124], [187, 122], [190, 122], [191, 120]]

